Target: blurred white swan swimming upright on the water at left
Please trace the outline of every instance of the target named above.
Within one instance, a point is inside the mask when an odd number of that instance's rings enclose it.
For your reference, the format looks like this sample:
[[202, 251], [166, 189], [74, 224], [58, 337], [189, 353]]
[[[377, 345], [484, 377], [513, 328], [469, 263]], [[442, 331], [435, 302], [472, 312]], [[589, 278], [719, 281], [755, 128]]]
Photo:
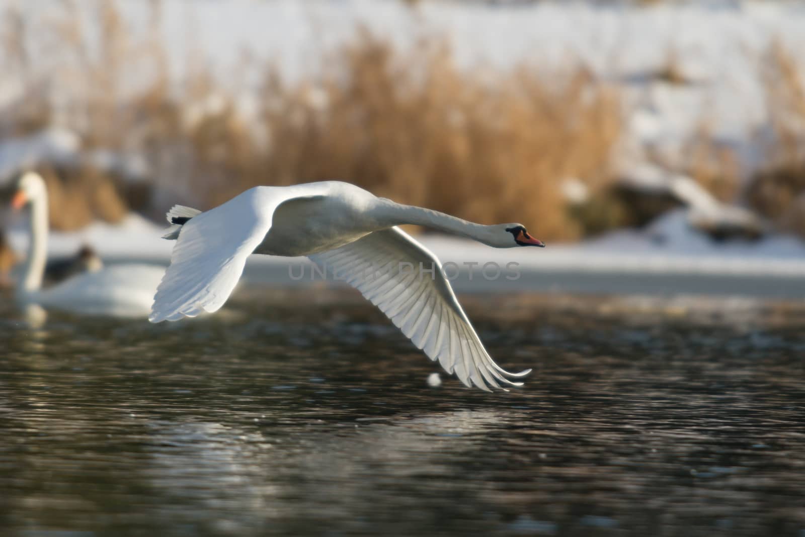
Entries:
[[155, 290], [165, 274], [161, 266], [114, 265], [42, 289], [47, 262], [47, 188], [42, 177], [31, 171], [19, 178], [11, 200], [14, 209], [22, 209], [26, 204], [31, 204], [31, 240], [22, 284], [16, 291], [20, 304], [39, 304], [43, 308], [88, 315], [148, 315]]

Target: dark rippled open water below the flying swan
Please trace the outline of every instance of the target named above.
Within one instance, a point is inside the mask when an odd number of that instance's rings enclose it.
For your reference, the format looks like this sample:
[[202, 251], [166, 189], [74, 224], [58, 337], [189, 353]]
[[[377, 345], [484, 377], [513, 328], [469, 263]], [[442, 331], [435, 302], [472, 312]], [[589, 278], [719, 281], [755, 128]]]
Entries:
[[805, 308], [465, 299], [526, 387], [443, 375], [368, 304], [0, 313], [0, 535], [805, 535]]

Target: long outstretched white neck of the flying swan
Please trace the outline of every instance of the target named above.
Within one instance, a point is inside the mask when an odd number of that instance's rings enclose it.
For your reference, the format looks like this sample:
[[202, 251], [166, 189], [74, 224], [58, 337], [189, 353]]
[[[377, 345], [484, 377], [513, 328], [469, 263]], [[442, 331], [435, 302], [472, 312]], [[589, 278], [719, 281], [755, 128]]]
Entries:
[[439, 229], [460, 237], [471, 238], [489, 246], [499, 246], [496, 242], [496, 228], [452, 217], [431, 209], [414, 205], [403, 205], [391, 200], [381, 200], [378, 206], [380, 220], [385, 225], [414, 224], [431, 229]]

